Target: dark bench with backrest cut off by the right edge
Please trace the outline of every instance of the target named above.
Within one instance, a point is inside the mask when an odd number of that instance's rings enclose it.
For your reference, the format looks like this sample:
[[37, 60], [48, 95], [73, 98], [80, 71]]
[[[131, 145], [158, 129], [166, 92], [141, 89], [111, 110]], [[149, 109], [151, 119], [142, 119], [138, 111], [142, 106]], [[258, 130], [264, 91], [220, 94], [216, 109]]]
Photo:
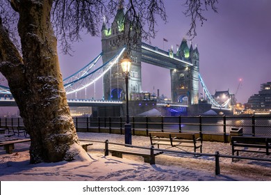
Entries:
[[[263, 148], [265, 150], [253, 150], [252, 148]], [[239, 155], [240, 151], [270, 155], [271, 137], [233, 136], [231, 137], [231, 149], [232, 155], [234, 155], [234, 153]]]

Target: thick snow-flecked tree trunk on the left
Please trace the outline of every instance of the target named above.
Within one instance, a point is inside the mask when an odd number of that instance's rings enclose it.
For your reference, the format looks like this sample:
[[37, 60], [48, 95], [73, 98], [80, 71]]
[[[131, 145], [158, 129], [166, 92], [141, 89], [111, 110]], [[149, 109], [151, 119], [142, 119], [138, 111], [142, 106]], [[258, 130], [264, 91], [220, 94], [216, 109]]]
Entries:
[[[31, 137], [31, 163], [69, 161], [83, 154], [60, 73], [57, 40], [50, 22], [51, 3], [13, 1], [13, 8], [19, 13], [22, 57], [11, 42], [6, 44], [12, 50], [2, 48], [0, 55], [0, 70], [8, 79]], [[0, 34], [3, 33], [1, 29]], [[3, 39], [0, 38], [1, 47], [6, 41]]]

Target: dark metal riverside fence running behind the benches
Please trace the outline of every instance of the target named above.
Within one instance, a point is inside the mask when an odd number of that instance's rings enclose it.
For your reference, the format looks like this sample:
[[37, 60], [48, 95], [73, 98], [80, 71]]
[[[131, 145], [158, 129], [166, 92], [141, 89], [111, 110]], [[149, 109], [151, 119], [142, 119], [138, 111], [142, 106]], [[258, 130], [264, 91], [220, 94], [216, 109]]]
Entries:
[[[271, 136], [271, 116], [133, 116], [130, 118], [132, 132], [136, 130], [161, 132], [194, 132], [202, 134], [230, 134], [232, 127], [242, 127], [243, 134], [251, 136]], [[92, 128], [106, 128], [124, 133], [123, 117], [74, 118], [76, 130], [90, 132]], [[22, 126], [22, 118], [0, 118], [0, 126]]]

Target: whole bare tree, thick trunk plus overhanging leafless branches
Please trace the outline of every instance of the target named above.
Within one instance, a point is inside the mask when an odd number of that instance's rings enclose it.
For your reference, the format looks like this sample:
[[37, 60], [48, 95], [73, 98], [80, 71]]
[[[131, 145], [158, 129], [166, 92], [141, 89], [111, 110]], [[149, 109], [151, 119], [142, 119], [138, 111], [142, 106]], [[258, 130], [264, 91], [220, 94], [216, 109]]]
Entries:
[[[202, 7], [201, 1], [193, 2], [188, 0], [186, 5], [194, 13], [192, 20], [196, 20]], [[214, 8], [215, 0], [204, 2]], [[103, 17], [109, 21], [120, 3], [122, 0], [0, 2], [0, 71], [8, 80], [30, 134], [31, 163], [86, 157], [67, 105], [57, 38], [62, 51], [69, 53], [82, 31], [97, 36]], [[163, 0], [129, 0], [126, 16], [145, 40], [156, 35], [156, 17], [166, 21]]]

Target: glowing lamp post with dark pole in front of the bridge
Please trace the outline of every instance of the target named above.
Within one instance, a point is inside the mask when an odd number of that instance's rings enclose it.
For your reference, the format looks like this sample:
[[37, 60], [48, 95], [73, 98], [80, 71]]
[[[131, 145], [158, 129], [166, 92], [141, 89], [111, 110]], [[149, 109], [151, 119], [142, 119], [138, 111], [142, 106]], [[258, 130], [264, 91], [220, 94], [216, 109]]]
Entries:
[[126, 85], [126, 124], [124, 125], [125, 130], [125, 144], [132, 144], [132, 132], [131, 124], [129, 121], [129, 95], [128, 95], [128, 75], [131, 68], [131, 59], [129, 59], [128, 54], [124, 52], [123, 59], [120, 61], [122, 65], [122, 70], [125, 74], [125, 85]]

